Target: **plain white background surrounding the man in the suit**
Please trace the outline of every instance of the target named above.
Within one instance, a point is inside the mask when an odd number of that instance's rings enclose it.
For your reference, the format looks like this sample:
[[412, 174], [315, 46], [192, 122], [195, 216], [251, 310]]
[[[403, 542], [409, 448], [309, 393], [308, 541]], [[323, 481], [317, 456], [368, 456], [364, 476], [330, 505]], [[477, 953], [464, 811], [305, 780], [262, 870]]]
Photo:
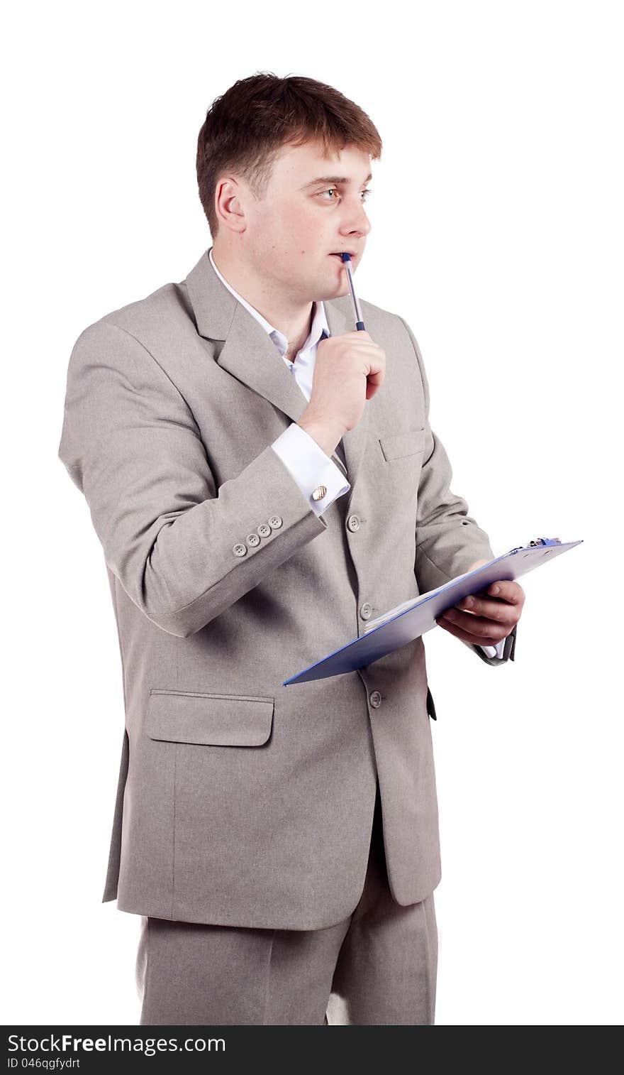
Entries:
[[3, 1021], [139, 1022], [140, 919], [100, 902], [124, 699], [101, 546], [57, 458], [64, 378], [87, 325], [211, 245], [199, 129], [273, 71], [336, 86], [381, 134], [358, 291], [413, 329], [453, 490], [496, 554], [583, 539], [523, 579], [513, 663], [426, 636], [436, 1023], [620, 1023], [621, 5], [293, 13], [5, 17]]

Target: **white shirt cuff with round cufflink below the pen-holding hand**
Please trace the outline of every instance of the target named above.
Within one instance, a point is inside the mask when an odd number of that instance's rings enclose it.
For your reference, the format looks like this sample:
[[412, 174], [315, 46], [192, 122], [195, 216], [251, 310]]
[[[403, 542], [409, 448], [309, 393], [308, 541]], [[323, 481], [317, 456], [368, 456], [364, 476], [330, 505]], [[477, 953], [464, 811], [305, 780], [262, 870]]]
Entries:
[[[340, 469], [325, 455], [320, 444], [295, 421], [279, 434], [271, 447], [290, 471], [317, 515], [326, 512], [337, 497], [351, 488]], [[313, 500], [311, 494], [320, 485], [324, 485], [328, 491], [321, 500]]]

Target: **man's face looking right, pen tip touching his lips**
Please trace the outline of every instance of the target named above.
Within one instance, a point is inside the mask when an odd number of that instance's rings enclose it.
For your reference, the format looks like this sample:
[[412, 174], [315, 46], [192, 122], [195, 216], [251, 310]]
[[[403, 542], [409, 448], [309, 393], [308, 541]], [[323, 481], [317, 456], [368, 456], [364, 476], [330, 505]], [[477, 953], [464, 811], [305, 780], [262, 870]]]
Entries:
[[351, 253], [354, 272], [371, 230], [364, 206], [371, 172], [362, 149], [345, 146], [324, 157], [322, 145], [306, 143], [282, 147], [261, 201], [237, 180], [237, 197], [221, 205], [238, 214], [232, 238], [245, 271], [294, 304], [348, 295], [338, 252]]

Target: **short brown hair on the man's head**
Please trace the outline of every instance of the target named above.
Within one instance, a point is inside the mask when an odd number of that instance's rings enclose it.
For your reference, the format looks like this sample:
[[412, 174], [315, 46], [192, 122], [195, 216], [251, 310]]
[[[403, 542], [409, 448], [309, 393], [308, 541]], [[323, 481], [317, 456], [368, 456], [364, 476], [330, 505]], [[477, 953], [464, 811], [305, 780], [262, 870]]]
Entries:
[[253, 197], [261, 199], [281, 147], [316, 140], [322, 142], [325, 155], [355, 145], [373, 160], [381, 156], [379, 132], [366, 113], [315, 78], [279, 78], [260, 71], [215, 98], [199, 133], [197, 154], [200, 201], [213, 240], [219, 229], [215, 190], [223, 171], [238, 172]]

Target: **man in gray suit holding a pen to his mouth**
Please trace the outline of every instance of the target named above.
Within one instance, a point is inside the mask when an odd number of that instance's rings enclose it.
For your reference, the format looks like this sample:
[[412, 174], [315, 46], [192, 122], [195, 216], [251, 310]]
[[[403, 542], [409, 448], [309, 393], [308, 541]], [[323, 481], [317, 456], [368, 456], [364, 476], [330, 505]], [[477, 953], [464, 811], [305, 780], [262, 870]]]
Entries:
[[[214, 245], [70, 359], [59, 456], [126, 699], [103, 899], [142, 916], [143, 1023], [434, 1021], [422, 639], [282, 685], [494, 555], [449, 488], [410, 328], [362, 301], [354, 330], [337, 255], [361, 262], [380, 150], [332, 87], [237, 82], [199, 138]], [[499, 587], [440, 619], [489, 663], [524, 599]]]

